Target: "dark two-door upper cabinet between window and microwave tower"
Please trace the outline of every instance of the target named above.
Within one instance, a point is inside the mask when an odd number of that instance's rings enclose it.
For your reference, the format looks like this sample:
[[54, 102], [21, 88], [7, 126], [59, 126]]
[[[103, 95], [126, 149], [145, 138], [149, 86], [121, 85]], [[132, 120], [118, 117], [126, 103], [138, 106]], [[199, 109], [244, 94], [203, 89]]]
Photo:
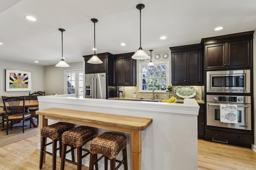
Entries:
[[170, 47], [172, 85], [203, 85], [202, 45]]

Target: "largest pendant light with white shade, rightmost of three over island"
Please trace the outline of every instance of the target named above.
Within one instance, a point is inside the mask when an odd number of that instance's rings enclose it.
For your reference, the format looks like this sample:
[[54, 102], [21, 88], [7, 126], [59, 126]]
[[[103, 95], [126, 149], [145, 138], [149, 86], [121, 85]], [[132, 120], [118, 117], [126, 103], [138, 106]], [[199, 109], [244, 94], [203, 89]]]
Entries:
[[145, 7], [144, 4], [138, 4], [136, 8], [140, 10], [140, 47], [138, 51], [132, 55], [132, 59], [148, 59], [149, 56], [143, 51], [141, 47], [141, 10]]

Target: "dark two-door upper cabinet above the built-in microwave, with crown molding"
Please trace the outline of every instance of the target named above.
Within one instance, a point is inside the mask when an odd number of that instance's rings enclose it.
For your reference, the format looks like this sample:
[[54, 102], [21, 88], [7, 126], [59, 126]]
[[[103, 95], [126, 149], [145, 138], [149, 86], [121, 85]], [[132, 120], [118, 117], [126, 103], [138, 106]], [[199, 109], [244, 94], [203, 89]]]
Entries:
[[236, 69], [252, 67], [254, 31], [203, 38], [205, 69]]

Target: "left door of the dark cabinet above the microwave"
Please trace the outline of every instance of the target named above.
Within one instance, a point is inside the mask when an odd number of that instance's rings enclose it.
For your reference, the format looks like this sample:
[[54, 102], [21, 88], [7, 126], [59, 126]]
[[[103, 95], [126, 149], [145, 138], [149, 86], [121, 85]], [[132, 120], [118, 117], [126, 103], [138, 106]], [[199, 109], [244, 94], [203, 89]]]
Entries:
[[204, 46], [205, 69], [226, 68], [226, 43]]

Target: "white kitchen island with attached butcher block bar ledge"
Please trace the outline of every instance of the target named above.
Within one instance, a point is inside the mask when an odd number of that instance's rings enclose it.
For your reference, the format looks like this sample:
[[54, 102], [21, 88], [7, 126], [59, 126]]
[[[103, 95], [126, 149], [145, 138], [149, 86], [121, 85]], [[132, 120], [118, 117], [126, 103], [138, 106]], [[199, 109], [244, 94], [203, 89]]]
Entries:
[[[56, 95], [40, 96], [38, 101], [40, 129], [60, 121], [96, 127], [97, 135], [107, 131], [125, 134], [128, 170], [198, 169], [199, 105], [195, 99], [162, 103]], [[89, 166], [89, 159], [83, 158], [82, 164]], [[104, 161], [98, 166], [104, 169]]]

